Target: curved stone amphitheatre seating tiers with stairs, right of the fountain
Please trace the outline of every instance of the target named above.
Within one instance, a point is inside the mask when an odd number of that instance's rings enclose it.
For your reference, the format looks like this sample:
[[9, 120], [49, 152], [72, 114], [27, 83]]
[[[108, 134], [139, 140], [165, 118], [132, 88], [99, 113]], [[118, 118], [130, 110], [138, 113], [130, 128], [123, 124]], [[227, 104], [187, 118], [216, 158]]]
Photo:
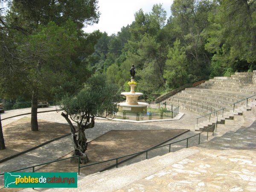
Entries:
[[[243, 111], [252, 110], [255, 107], [255, 98], [241, 101], [256, 94], [256, 71], [253, 73], [235, 73], [231, 77], [215, 77], [193, 88], [186, 88], [181, 92], [166, 98], [162, 102], [179, 105], [181, 109], [192, 111], [205, 116], [198, 119], [195, 125], [196, 131], [208, 128], [212, 131], [215, 124], [224, 124], [225, 119], [233, 119], [234, 115], [242, 115]], [[247, 105], [247, 106], [246, 106]], [[220, 109], [223, 109], [218, 111]], [[214, 111], [218, 111], [214, 113]]]

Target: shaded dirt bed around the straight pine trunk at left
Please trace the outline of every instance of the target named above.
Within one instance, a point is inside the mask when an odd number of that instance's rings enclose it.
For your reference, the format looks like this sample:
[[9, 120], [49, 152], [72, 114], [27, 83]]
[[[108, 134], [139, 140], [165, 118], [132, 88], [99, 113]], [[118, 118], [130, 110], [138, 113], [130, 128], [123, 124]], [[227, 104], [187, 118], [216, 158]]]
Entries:
[[0, 160], [70, 133], [69, 125], [40, 119], [38, 119], [38, 129], [39, 131], [31, 131], [29, 117], [23, 117], [3, 126], [6, 149], [1, 150]]

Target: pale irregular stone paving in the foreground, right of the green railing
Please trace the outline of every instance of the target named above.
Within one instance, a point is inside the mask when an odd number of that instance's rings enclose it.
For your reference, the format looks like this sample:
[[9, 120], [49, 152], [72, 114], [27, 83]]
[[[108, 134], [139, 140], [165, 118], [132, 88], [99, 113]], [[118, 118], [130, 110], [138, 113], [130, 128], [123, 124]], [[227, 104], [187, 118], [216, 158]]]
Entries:
[[[72, 191], [255, 191], [256, 122], [252, 111], [223, 125], [223, 134], [120, 168], [81, 175]], [[231, 128], [231, 129], [230, 129]], [[228, 165], [228, 166], [227, 166]], [[65, 191], [67, 189], [48, 189]], [[26, 189], [23, 191], [32, 191]]]

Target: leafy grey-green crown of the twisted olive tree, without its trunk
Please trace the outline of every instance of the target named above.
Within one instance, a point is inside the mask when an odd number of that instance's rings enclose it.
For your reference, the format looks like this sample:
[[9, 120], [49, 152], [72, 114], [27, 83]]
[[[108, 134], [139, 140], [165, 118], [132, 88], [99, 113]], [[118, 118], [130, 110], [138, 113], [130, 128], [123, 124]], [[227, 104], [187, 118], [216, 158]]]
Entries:
[[117, 112], [114, 102], [117, 87], [105, 81], [102, 75], [94, 75], [84, 87], [76, 89], [72, 95], [65, 95], [61, 100], [61, 109], [78, 124], [86, 119], [93, 119], [104, 111]]

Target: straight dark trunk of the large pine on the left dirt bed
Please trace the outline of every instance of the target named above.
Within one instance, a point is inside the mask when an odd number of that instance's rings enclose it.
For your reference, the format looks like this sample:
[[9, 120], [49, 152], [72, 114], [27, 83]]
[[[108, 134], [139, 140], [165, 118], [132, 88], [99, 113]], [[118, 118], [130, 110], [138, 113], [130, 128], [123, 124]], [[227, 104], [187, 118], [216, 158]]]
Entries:
[[37, 108], [38, 108], [38, 95], [37, 95], [37, 91], [33, 91], [32, 102], [31, 102], [31, 131], [38, 131]]

